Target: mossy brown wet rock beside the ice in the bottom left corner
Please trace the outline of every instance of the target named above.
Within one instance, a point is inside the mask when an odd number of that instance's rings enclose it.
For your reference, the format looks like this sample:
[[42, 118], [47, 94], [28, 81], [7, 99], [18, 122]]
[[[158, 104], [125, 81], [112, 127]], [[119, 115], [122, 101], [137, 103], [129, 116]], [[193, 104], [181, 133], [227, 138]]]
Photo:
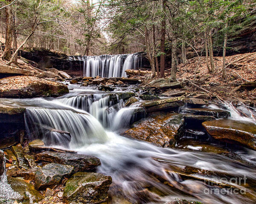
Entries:
[[27, 183], [25, 180], [13, 177], [8, 177], [7, 180], [12, 189], [20, 195], [20, 198], [17, 199], [17, 201], [22, 201], [24, 204], [30, 204], [38, 203], [44, 199], [44, 196], [35, 190], [32, 184]]

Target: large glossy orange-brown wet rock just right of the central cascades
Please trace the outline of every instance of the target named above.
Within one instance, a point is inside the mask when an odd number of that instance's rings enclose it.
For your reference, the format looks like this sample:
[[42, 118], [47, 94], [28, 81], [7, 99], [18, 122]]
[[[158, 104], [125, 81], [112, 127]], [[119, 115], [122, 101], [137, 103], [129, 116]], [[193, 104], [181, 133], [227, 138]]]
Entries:
[[161, 147], [173, 146], [183, 133], [184, 116], [175, 113], [156, 113], [132, 125], [123, 135], [153, 142]]

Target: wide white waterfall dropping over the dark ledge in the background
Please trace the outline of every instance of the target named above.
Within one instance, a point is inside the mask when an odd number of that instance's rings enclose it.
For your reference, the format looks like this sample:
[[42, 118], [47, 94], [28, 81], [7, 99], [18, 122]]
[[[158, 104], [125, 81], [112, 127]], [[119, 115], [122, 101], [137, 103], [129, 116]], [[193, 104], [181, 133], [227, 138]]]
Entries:
[[70, 56], [70, 61], [83, 61], [84, 77], [127, 77], [125, 70], [143, 65], [141, 53], [100, 56]]

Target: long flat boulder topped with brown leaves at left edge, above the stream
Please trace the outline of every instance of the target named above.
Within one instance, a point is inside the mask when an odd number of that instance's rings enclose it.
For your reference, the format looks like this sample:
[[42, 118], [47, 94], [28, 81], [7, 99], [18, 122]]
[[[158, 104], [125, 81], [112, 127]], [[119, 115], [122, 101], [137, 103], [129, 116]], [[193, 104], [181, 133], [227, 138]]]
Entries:
[[16, 76], [0, 79], [0, 97], [52, 97], [68, 92], [66, 85], [37, 77]]

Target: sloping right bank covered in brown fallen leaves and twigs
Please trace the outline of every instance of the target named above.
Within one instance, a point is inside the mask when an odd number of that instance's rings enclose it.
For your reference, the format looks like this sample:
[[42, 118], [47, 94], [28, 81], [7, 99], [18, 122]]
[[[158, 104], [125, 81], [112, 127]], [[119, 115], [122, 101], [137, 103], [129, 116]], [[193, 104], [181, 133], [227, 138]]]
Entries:
[[[186, 64], [177, 67], [177, 81], [187, 80], [195, 85], [187, 87], [188, 91], [209, 91], [210, 96], [220, 96], [231, 102], [243, 102], [250, 106], [256, 106], [256, 87], [241, 88], [246, 82], [256, 82], [256, 52], [237, 54], [226, 57], [227, 79], [221, 78], [222, 57], [214, 57], [216, 71], [209, 73], [206, 57], [188, 59]], [[170, 77], [171, 69], [165, 71], [166, 77]], [[144, 78], [144, 79], [143, 79]], [[142, 77], [144, 83], [148, 83], [147, 76]], [[145, 82], [146, 81], [146, 82]], [[204, 89], [204, 90], [203, 90]]]

